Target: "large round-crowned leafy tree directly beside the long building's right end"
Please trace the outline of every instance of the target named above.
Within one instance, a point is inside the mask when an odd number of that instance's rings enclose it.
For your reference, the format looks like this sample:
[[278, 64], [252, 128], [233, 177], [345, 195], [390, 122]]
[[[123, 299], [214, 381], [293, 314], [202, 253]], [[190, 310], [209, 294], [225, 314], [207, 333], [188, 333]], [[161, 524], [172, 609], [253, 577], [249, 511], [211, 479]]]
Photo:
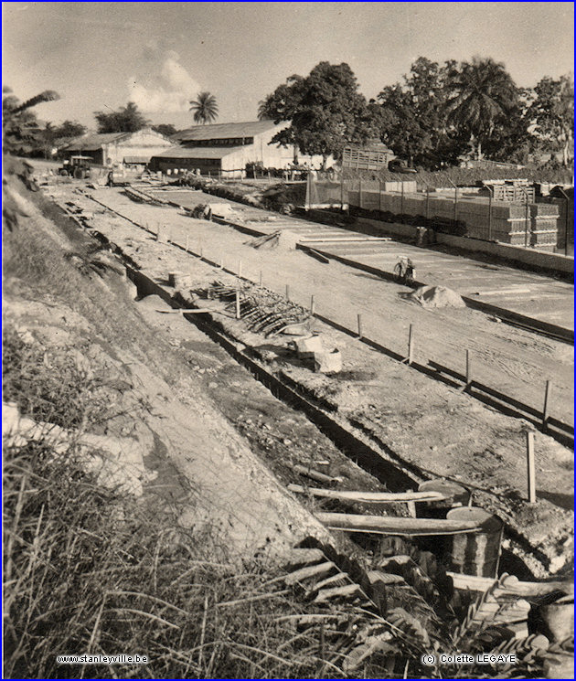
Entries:
[[272, 143], [295, 144], [304, 154], [338, 157], [347, 143], [363, 143], [379, 133], [379, 117], [357, 91], [357, 80], [345, 64], [322, 61], [303, 78], [286, 80], [259, 106], [259, 117], [290, 122]]

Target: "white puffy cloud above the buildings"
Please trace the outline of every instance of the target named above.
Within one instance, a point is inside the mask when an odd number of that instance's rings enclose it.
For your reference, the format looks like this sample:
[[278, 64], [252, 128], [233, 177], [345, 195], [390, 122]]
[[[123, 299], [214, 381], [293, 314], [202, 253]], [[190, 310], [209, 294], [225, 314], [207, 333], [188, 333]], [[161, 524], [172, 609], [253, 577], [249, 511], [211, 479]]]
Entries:
[[155, 78], [128, 80], [128, 96], [146, 113], [180, 113], [190, 109], [200, 85], [190, 76], [176, 52], [165, 52], [162, 67]]

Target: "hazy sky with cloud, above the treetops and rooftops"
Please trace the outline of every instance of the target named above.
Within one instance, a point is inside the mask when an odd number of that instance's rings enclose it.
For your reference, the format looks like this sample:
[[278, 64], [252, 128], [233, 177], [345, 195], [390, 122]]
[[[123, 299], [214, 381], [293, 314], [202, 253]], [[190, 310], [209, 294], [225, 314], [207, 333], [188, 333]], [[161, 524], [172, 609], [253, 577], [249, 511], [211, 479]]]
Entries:
[[38, 118], [94, 129], [93, 113], [134, 101], [153, 123], [193, 123], [210, 91], [219, 121], [256, 120], [258, 102], [320, 61], [347, 62], [376, 97], [412, 61], [505, 63], [518, 86], [574, 63], [571, 2], [5, 2], [3, 82], [21, 100], [56, 90]]

